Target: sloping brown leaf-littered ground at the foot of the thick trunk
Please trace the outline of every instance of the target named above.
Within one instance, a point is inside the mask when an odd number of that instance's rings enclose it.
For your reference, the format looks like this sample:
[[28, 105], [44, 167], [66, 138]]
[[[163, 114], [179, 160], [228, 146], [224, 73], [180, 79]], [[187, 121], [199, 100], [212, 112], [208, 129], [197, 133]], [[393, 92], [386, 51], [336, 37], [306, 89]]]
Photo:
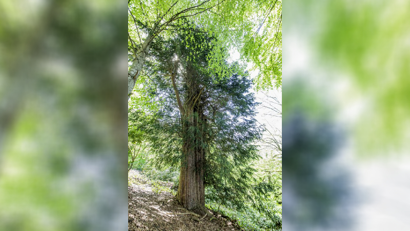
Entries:
[[171, 182], [153, 183], [133, 169], [128, 180], [128, 230], [240, 230], [230, 219], [213, 215], [211, 210], [204, 218], [187, 213], [175, 201]]

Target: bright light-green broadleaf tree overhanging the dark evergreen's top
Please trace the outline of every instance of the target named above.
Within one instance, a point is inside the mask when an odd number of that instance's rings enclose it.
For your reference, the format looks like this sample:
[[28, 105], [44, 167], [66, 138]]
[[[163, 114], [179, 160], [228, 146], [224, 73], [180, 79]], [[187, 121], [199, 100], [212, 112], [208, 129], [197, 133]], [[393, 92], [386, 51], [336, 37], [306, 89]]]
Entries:
[[[261, 77], [256, 81], [259, 88], [273, 87], [274, 81], [276, 87], [281, 85], [281, 1], [204, 0], [193, 4], [189, 0], [130, 0], [128, 11], [129, 98], [153, 41], [159, 35], [170, 36], [175, 28], [182, 30], [182, 19], [186, 18], [216, 36], [209, 63], [220, 78], [226, 76], [219, 67], [227, 53], [224, 47], [228, 45], [260, 69]], [[192, 39], [185, 36], [185, 42]], [[226, 53], [221, 53], [222, 50]]]

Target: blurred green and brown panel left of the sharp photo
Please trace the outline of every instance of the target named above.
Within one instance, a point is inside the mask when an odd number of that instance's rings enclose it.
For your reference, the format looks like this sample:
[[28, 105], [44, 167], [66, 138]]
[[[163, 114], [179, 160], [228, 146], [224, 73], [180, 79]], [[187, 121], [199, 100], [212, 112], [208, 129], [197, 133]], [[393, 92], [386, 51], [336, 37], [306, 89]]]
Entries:
[[126, 229], [124, 9], [0, 1], [0, 230]]

